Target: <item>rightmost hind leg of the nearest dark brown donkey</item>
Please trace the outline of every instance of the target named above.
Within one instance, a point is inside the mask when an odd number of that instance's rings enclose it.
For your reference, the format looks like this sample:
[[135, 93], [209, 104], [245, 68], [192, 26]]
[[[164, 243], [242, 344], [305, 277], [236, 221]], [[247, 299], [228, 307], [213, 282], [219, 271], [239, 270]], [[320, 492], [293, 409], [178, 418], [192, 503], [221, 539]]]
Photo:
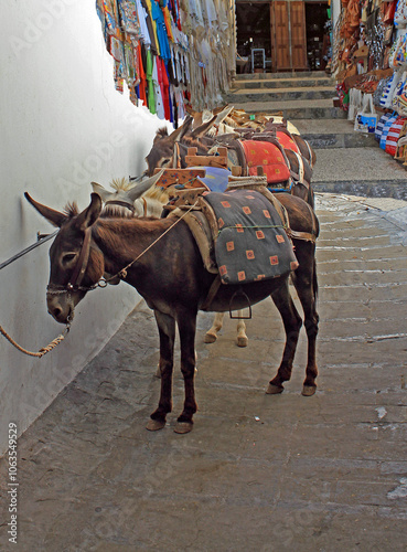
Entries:
[[[310, 244], [310, 247], [313, 245]], [[298, 251], [298, 250], [297, 250]], [[317, 312], [317, 264], [313, 259], [311, 263], [302, 263], [299, 259], [300, 266], [292, 274], [292, 283], [296, 287], [298, 297], [304, 314], [304, 326], [308, 337], [308, 360], [306, 369], [306, 380], [303, 382], [302, 395], [311, 396], [317, 391], [315, 379], [318, 375], [317, 367], [317, 336], [319, 316]]]

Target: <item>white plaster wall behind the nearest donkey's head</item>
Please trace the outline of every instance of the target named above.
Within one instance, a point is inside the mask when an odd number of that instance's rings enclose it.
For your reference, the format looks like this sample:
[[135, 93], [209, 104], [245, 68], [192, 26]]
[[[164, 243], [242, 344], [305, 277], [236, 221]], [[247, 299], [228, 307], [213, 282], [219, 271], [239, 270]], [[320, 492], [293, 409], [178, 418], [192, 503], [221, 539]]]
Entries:
[[[0, 3], [0, 262], [54, 231], [24, 200], [85, 208], [90, 181], [137, 176], [163, 126], [115, 91], [95, 0]], [[49, 242], [50, 244], [51, 242]], [[0, 270], [0, 325], [38, 351], [63, 327], [46, 312], [49, 244]], [[0, 337], [0, 454], [103, 348], [140, 297], [129, 286], [88, 294], [69, 336], [38, 360]]]

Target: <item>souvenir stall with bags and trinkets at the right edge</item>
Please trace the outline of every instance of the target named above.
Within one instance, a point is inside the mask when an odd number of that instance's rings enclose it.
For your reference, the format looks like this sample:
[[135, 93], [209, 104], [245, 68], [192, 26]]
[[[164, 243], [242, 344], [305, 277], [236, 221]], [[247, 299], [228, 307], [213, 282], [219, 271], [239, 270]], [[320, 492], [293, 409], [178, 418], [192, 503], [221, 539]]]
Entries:
[[332, 71], [355, 131], [407, 164], [407, 0], [342, 0]]

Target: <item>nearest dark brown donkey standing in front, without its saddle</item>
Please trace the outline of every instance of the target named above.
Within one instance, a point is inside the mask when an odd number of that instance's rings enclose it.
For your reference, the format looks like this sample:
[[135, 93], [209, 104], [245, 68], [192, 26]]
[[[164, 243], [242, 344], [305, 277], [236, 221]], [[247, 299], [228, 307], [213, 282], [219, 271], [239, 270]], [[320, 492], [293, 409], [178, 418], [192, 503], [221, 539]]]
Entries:
[[[120, 274], [133, 286], [153, 309], [160, 337], [161, 395], [158, 408], [151, 414], [147, 428], [161, 429], [172, 407], [172, 370], [175, 325], [181, 343], [181, 371], [184, 378], [184, 408], [178, 418], [176, 433], [192, 429], [196, 412], [194, 393], [196, 315], [203, 306], [216, 275], [202, 263], [196, 243], [182, 219], [104, 219], [101, 200], [90, 197], [87, 209], [78, 212], [72, 205], [66, 213], [55, 211], [34, 201], [30, 203], [52, 224], [61, 230], [51, 248], [51, 273], [47, 286], [49, 312], [61, 323], [73, 316], [75, 306], [94, 289], [105, 273]], [[292, 230], [311, 233], [318, 226], [313, 211], [298, 198], [287, 195], [283, 204]], [[179, 221], [179, 222], [176, 222]], [[318, 315], [315, 310], [317, 274], [314, 242], [293, 240], [299, 268], [291, 273], [293, 284], [304, 310], [308, 333], [308, 363], [302, 394], [315, 392], [318, 374], [315, 341]], [[301, 317], [290, 296], [289, 274], [279, 278], [245, 285], [251, 304], [269, 295], [282, 317], [286, 346], [281, 364], [270, 381], [267, 393], [281, 393], [283, 382], [291, 376]], [[239, 286], [222, 285], [211, 304], [212, 311], [228, 310], [233, 294]], [[246, 302], [246, 301], [244, 301]], [[236, 301], [236, 308], [244, 308]]]

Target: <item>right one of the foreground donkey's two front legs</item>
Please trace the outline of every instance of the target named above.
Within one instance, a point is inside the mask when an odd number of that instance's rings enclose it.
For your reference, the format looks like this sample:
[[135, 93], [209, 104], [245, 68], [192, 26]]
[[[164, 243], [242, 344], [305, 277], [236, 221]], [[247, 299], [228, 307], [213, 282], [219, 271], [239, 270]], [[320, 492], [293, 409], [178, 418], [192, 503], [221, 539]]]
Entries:
[[184, 408], [176, 421], [175, 433], [189, 433], [193, 427], [193, 415], [197, 410], [195, 401], [195, 332], [196, 312], [182, 312], [178, 317], [181, 346], [181, 372], [184, 378]]

